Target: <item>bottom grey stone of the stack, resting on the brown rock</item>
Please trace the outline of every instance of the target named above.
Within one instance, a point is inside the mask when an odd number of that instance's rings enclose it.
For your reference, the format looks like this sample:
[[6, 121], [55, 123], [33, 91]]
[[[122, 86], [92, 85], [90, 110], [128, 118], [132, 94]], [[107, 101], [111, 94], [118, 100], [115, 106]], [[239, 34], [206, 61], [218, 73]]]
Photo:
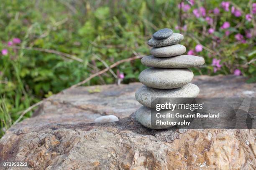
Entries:
[[[160, 111], [161, 114], [167, 114], [167, 113], [180, 113], [180, 114], [187, 114], [187, 110], [161, 110]], [[193, 114], [194, 112], [189, 112], [191, 114]], [[173, 125], [154, 125], [151, 124], [151, 116], [156, 117], [156, 111], [155, 109], [151, 109], [145, 106], [141, 106], [135, 113], [135, 120], [137, 120], [138, 122], [140, 122], [143, 126], [149, 128], [149, 129], [166, 129], [166, 128], [170, 128]], [[158, 120], [161, 121], [170, 121], [170, 122], [176, 122], [176, 121], [184, 121], [184, 120], [189, 120], [189, 118], [157, 118]], [[153, 121], [154, 122], [154, 121]]]

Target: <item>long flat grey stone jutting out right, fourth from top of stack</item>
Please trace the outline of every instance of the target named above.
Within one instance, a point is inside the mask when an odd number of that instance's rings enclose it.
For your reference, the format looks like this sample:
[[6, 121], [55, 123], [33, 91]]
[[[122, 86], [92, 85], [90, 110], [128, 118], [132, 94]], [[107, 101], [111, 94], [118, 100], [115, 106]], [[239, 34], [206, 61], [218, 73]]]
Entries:
[[154, 57], [153, 55], [145, 56], [141, 59], [141, 63], [148, 67], [159, 68], [187, 68], [198, 67], [205, 63], [203, 57], [195, 55], [178, 55], [174, 57]]

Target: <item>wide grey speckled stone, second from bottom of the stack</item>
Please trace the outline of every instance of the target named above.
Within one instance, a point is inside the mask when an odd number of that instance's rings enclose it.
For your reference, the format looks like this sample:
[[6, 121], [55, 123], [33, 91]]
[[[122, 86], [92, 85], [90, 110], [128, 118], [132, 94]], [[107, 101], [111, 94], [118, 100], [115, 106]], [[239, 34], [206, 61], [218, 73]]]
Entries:
[[[175, 89], [155, 89], [147, 86], [142, 86], [139, 88], [136, 93], [135, 97], [138, 102], [141, 103], [141, 105], [144, 105], [146, 107], [155, 108], [155, 105], [152, 104], [155, 98], [158, 97], [197, 97], [199, 94], [199, 87], [197, 85], [188, 83], [182, 87], [175, 88]], [[159, 104], [165, 104], [166, 102], [171, 103], [184, 103], [182, 100], [187, 100], [185, 98], [164, 98], [163, 100], [158, 99], [157, 103]]]

